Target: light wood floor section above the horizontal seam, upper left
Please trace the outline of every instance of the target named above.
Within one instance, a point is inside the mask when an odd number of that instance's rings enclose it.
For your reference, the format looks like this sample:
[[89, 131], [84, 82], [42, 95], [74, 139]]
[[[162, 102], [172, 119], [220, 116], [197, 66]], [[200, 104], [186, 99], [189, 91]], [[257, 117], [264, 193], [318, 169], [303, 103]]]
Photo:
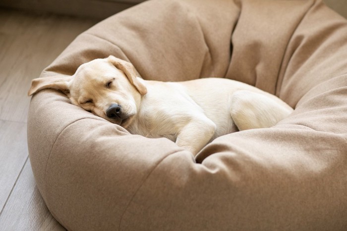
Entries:
[[97, 21], [0, 10], [0, 119], [26, 122], [31, 80]]

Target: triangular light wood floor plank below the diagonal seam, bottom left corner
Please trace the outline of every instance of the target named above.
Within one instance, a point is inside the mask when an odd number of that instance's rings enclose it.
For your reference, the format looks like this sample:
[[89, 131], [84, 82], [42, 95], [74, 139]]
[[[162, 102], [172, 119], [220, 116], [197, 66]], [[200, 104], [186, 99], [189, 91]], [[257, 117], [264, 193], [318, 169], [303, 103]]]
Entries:
[[35, 185], [29, 159], [1, 213], [0, 227], [4, 231], [65, 230], [46, 207]]

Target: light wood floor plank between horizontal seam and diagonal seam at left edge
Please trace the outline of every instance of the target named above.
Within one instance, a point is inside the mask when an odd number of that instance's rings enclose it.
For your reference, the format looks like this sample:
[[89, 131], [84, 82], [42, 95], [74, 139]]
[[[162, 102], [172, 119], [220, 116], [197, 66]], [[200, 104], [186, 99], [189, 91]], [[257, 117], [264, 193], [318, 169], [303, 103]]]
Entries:
[[0, 120], [0, 211], [27, 156], [26, 123]]

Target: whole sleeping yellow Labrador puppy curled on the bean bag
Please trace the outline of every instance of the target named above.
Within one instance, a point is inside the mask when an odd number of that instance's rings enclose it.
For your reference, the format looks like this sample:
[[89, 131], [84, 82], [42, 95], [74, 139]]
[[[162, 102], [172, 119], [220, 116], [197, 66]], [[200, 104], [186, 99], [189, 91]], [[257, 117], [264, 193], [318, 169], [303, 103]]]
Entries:
[[28, 95], [58, 89], [131, 134], [166, 137], [194, 155], [235, 126], [269, 128], [293, 110], [270, 93], [229, 79], [159, 82], [135, 73], [131, 63], [111, 55], [82, 64], [72, 76], [34, 79]]

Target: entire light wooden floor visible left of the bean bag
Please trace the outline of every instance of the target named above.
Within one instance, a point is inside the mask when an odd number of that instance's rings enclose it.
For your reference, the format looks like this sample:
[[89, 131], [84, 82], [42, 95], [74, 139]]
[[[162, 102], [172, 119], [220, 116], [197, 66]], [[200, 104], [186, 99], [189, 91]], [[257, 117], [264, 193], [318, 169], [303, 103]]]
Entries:
[[0, 231], [65, 230], [38, 191], [27, 150], [31, 79], [98, 20], [0, 9]]

